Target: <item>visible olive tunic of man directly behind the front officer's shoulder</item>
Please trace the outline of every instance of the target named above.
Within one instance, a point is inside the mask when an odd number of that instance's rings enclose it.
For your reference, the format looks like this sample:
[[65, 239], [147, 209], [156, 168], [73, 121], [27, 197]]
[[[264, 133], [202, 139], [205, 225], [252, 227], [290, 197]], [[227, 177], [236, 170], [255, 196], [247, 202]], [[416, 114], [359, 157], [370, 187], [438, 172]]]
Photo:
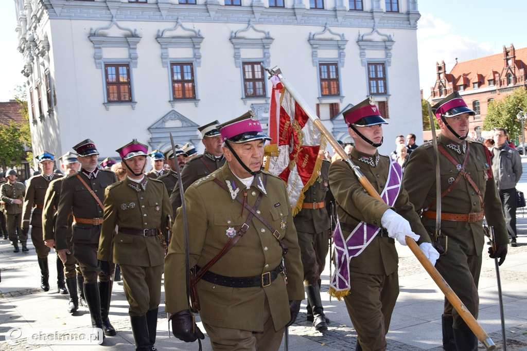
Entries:
[[[207, 166], [203, 164], [203, 162], [207, 164]], [[203, 154], [194, 156], [189, 159], [183, 167], [183, 171], [181, 172], [181, 183], [183, 184], [183, 193], [192, 183], [196, 182], [196, 180], [209, 175], [211, 173], [211, 169], [212, 172], [214, 172], [216, 171], [216, 169], [223, 166], [223, 164], [225, 164], [225, 157], [221, 156], [220, 158], [216, 158], [207, 150], [205, 150]], [[178, 207], [181, 206], [181, 195], [179, 186], [176, 185], [174, 187], [174, 190], [172, 190], [172, 192], [169, 192], [169, 195], [170, 203], [172, 204], [172, 211], [175, 214]]]

